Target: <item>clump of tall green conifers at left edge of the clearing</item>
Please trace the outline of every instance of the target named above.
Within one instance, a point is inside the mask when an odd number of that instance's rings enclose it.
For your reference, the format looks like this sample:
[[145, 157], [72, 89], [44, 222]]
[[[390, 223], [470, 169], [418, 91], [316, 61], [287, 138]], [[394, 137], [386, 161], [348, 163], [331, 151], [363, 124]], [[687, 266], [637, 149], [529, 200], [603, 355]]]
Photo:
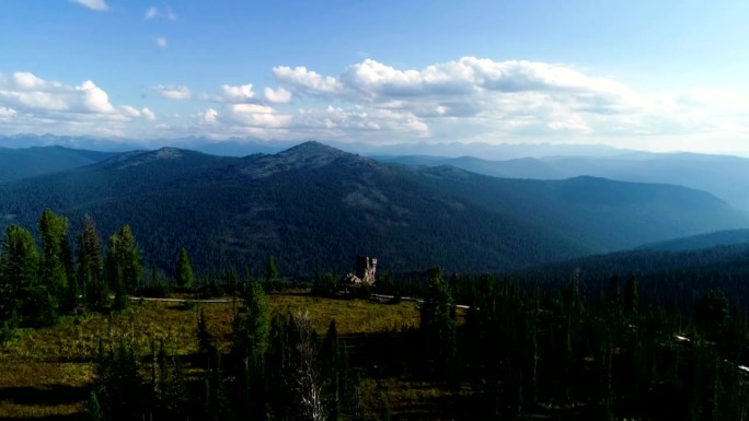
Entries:
[[[132, 230], [123, 225], [104, 249], [91, 218], [72, 241], [68, 220], [45, 209], [34, 235], [10, 225], [0, 245], [0, 321], [4, 328], [48, 326], [61, 315], [115, 311], [143, 288], [143, 266]], [[105, 253], [104, 253], [105, 250]]]

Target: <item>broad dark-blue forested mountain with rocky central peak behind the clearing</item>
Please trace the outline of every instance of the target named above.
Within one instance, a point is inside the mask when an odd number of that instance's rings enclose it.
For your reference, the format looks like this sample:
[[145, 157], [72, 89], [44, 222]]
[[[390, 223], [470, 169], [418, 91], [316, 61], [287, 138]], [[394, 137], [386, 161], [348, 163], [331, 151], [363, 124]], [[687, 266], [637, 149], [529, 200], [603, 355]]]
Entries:
[[341, 273], [357, 254], [384, 271], [500, 271], [749, 226], [744, 212], [679, 186], [496, 178], [318, 142], [245, 157], [126, 152], [0, 184], [0, 227], [35, 231], [45, 207], [73, 234], [84, 214], [103, 237], [129, 223], [146, 260], [168, 270], [184, 246], [204, 273], [262, 271], [270, 255], [285, 274]]

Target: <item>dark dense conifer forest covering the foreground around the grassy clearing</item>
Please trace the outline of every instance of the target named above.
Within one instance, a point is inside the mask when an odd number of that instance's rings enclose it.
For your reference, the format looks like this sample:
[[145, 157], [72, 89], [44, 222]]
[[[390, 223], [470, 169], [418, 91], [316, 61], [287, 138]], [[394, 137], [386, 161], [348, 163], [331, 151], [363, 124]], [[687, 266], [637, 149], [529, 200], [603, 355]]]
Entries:
[[[749, 411], [749, 314], [708, 281], [692, 282], [687, 300], [683, 284], [644, 288], [636, 273], [617, 272], [626, 266], [600, 260], [614, 272], [588, 279], [595, 288], [579, 271], [557, 284], [437, 267], [381, 274], [374, 289], [341, 294], [335, 274], [300, 284], [283, 278], [273, 256], [261, 276], [196, 274], [181, 248], [166, 276], [145, 265], [128, 225], [104, 242], [92, 219], [71, 233], [46, 209], [37, 231], [38, 246], [22, 226], [4, 233], [2, 343], [71, 317], [126, 314], [139, 305], [131, 296], [177, 294], [195, 313], [193, 352], [163, 337], [100, 337], [88, 360], [88, 419], [413, 419], [387, 390], [368, 387], [383, 378], [451, 390], [424, 398], [430, 409], [418, 419], [740, 420]], [[319, 331], [309, 308], [270, 312], [269, 296], [290, 289], [342, 306], [372, 292], [391, 296], [373, 304], [381, 306], [418, 297], [419, 321], [342, 337], [333, 318]], [[234, 303], [227, 346], [197, 302], [208, 296]]]

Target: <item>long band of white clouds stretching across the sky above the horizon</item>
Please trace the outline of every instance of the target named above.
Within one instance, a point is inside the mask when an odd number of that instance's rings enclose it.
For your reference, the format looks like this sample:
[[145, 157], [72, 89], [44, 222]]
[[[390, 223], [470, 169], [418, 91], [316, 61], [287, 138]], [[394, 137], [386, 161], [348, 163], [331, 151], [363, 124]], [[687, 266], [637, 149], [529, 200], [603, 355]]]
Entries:
[[[158, 11], [149, 9], [146, 19]], [[152, 17], [152, 16], [151, 16]], [[571, 66], [463, 57], [423, 69], [397, 69], [372, 59], [326, 75], [303, 66], [269, 69], [275, 86], [252, 81], [193, 93], [160, 84], [160, 115], [169, 124], [143, 131], [157, 104], [111, 104], [92, 81], [78, 85], [32, 73], [0, 78], [0, 127], [39, 120], [78, 131], [139, 136], [254, 136], [267, 139], [335, 139], [370, 142], [606, 142], [639, 147], [662, 140], [746, 142], [749, 98], [736, 93], [636, 92], [612, 78]], [[148, 107], [146, 106], [148, 105]], [[96, 125], [88, 125], [96, 116]], [[184, 117], [180, 117], [184, 116]], [[67, 126], [66, 126], [67, 125]], [[701, 140], [698, 140], [701, 139]], [[728, 143], [725, 143], [728, 144]], [[733, 143], [734, 145], [736, 143]], [[653, 148], [650, 148], [653, 149]]]

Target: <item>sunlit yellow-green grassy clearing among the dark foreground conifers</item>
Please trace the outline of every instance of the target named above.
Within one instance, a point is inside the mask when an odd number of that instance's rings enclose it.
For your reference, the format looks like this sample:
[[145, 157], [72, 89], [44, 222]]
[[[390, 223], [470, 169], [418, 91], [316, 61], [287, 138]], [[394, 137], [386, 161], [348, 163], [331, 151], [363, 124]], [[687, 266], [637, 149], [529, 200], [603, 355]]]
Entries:
[[[173, 302], [134, 302], [122, 314], [89, 314], [69, 317], [55, 327], [22, 330], [0, 350], [0, 419], [80, 419], [93, 378], [91, 360], [100, 347], [126, 337], [143, 352], [154, 341], [164, 340], [180, 354], [195, 353], [198, 309], [204, 311], [216, 344], [228, 352], [234, 305], [188, 307]], [[389, 305], [279, 294], [270, 295], [270, 308], [272, 313], [308, 309], [320, 335], [333, 318], [342, 336], [418, 326], [418, 309], [410, 302]]]

